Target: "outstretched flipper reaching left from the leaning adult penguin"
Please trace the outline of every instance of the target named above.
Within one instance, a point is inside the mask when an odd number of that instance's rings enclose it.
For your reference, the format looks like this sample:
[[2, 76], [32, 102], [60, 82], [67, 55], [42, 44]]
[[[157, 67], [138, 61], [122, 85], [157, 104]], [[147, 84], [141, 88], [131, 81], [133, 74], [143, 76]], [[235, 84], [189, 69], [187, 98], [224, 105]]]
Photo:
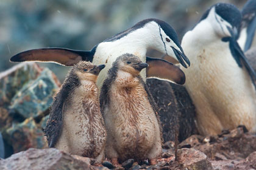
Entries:
[[73, 66], [79, 61], [92, 61], [93, 53], [91, 51], [83, 50], [71, 50], [63, 48], [44, 48], [33, 49], [25, 52], [18, 53], [12, 58], [11, 62], [23, 62], [23, 61], [39, 61], [39, 62], [51, 62], [64, 66]]

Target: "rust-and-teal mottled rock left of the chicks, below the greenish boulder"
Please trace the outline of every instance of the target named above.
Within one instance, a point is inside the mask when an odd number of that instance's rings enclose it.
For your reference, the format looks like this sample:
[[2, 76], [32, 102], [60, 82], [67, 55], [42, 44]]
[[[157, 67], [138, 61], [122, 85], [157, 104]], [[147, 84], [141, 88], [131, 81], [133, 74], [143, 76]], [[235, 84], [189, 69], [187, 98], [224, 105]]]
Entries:
[[23, 123], [14, 123], [5, 132], [5, 139], [13, 147], [13, 152], [25, 151], [29, 148], [47, 148], [47, 141], [41, 127], [30, 117]]

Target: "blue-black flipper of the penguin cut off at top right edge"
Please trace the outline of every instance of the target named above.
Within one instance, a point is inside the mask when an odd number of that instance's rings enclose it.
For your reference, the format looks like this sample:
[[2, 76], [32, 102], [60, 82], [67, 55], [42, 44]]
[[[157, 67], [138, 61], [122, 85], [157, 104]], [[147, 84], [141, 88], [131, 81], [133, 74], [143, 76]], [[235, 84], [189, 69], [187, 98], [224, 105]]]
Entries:
[[256, 0], [249, 0], [244, 4], [241, 11], [243, 20], [241, 22], [241, 29], [246, 29], [246, 42], [244, 44], [244, 52], [250, 49], [252, 41], [254, 39], [256, 29]]

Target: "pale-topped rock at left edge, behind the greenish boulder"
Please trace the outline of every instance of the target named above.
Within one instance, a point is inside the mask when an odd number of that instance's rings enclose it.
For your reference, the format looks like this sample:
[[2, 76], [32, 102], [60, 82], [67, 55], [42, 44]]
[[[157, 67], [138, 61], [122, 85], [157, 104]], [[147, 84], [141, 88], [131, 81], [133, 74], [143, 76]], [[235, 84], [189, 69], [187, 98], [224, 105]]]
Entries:
[[35, 63], [20, 63], [5, 72], [0, 73], [0, 106], [7, 108], [15, 94], [41, 73], [41, 68]]

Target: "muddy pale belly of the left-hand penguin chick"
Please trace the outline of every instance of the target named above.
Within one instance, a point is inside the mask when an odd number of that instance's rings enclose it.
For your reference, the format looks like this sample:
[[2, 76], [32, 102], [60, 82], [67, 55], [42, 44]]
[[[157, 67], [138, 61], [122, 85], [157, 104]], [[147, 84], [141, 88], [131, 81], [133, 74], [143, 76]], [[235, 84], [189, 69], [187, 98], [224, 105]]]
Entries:
[[96, 158], [104, 150], [107, 132], [99, 102], [90, 95], [81, 95], [82, 92], [84, 90], [79, 88], [75, 90], [76, 95], [65, 105], [62, 134], [55, 148], [69, 154]]

